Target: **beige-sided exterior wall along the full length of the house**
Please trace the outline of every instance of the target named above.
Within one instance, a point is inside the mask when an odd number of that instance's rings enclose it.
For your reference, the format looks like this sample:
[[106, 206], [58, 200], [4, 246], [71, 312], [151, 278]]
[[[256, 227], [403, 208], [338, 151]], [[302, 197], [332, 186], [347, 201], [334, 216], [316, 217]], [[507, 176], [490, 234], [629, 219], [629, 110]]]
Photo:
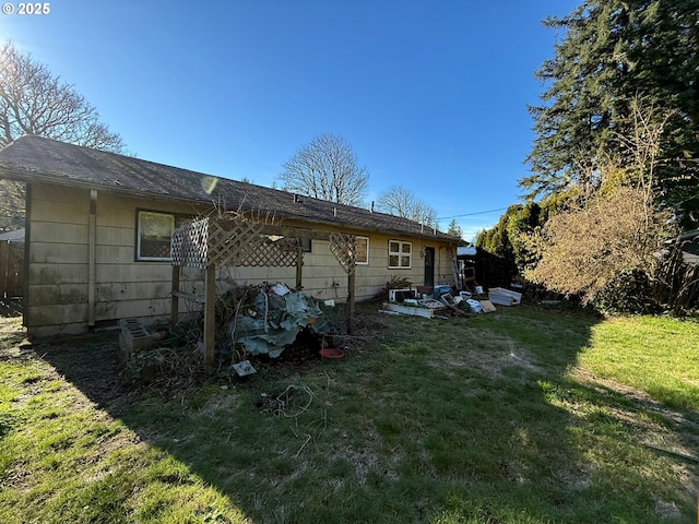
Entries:
[[[154, 211], [196, 216], [198, 210], [176, 202], [153, 201], [98, 191], [94, 227], [94, 326], [116, 325], [119, 319], [147, 322], [169, 319], [173, 267], [166, 261], [137, 261], [137, 213]], [[204, 210], [200, 210], [204, 211]], [[209, 210], [210, 211], [210, 210]], [[90, 327], [91, 194], [88, 190], [34, 183], [27, 207], [29, 252], [25, 324], [29, 336], [80, 333]], [[309, 227], [309, 224], [284, 223]], [[451, 262], [445, 245], [404, 236], [356, 233], [369, 237], [369, 264], [356, 267], [356, 299], [376, 296], [392, 276], [415, 285], [424, 279], [424, 247], [435, 248], [435, 282], [452, 283]], [[389, 240], [411, 241], [412, 267], [388, 267]], [[295, 267], [220, 267], [217, 290], [232, 285], [284, 282], [295, 285]], [[304, 255], [304, 290], [320, 300], [343, 301], [347, 276], [330, 251], [328, 241], [313, 240]], [[203, 271], [183, 269], [180, 290], [203, 296]], [[179, 300], [180, 313], [201, 308], [194, 300]]]

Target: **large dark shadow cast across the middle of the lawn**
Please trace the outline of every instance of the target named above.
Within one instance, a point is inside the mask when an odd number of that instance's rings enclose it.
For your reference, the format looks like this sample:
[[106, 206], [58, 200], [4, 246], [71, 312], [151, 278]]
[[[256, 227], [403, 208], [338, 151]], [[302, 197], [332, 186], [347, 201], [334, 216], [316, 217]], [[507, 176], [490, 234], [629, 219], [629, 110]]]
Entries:
[[682, 522], [678, 483], [657, 473], [668, 458], [635, 426], [665, 422], [629, 421], [643, 414], [633, 400], [571, 379], [597, 321], [524, 306], [441, 321], [364, 305], [343, 360], [166, 397], [131, 397], [115, 340], [35, 350], [254, 523]]

